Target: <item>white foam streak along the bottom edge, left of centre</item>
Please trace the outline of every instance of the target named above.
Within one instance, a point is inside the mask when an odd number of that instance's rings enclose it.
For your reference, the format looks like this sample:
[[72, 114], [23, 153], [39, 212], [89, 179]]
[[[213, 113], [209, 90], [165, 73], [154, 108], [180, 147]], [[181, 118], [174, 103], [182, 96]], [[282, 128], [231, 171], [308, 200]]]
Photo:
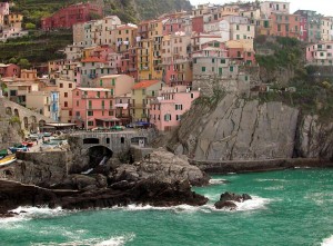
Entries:
[[79, 239], [73, 242], [67, 242], [67, 243], [39, 243], [33, 244], [32, 246], [122, 246], [127, 243], [133, 240], [135, 237], [135, 234], [129, 234], [124, 236], [115, 236], [111, 238], [89, 238], [89, 239]]

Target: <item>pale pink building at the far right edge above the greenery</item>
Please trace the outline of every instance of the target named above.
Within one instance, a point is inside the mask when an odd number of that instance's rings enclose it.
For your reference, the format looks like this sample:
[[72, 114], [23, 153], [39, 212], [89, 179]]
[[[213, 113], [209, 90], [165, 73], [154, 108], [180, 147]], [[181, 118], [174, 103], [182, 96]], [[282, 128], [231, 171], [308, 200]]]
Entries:
[[332, 66], [333, 41], [309, 45], [306, 47], [306, 63], [317, 66]]

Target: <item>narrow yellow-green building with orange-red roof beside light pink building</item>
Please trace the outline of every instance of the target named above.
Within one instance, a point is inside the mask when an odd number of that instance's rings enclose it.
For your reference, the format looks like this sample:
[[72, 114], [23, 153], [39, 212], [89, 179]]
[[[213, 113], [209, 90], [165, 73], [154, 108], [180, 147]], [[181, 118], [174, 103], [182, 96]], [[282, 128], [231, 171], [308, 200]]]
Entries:
[[162, 88], [161, 80], [142, 80], [132, 88], [131, 116], [133, 121], [149, 121], [150, 100]]

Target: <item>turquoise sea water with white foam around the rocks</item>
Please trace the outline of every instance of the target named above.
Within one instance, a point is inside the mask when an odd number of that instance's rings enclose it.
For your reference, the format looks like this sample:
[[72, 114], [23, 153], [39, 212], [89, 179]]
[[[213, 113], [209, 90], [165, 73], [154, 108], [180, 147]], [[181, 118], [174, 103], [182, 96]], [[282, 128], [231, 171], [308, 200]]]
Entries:
[[[215, 210], [212, 204], [226, 190], [253, 199], [235, 211]], [[210, 204], [21, 208], [27, 213], [20, 217], [0, 220], [0, 245], [333, 245], [333, 169], [215, 176], [195, 191]]]

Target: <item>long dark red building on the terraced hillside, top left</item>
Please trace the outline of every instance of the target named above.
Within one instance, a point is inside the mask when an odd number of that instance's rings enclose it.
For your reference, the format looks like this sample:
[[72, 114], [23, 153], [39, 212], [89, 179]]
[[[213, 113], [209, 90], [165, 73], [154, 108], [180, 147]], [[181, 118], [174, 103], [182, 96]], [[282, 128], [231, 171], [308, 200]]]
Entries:
[[91, 3], [78, 3], [63, 8], [51, 17], [42, 18], [41, 27], [43, 30], [72, 28], [75, 23], [90, 21], [92, 14], [102, 17], [102, 8]]

